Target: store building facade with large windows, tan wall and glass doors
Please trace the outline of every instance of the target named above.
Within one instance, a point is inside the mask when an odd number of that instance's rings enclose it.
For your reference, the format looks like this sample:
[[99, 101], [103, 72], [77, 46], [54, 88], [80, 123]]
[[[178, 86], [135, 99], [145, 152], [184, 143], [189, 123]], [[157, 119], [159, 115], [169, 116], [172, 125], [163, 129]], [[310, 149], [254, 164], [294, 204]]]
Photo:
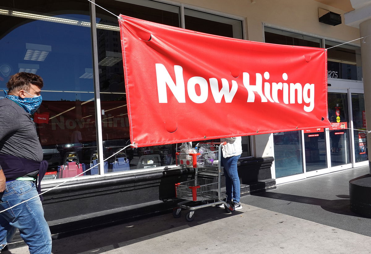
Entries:
[[[353, 10], [349, 0], [327, 2], [333, 1], [95, 1], [115, 15], [198, 32], [329, 48], [328, 116], [342, 129], [243, 137], [243, 193], [368, 165], [361, 40], [338, 46], [359, 38], [359, 29], [344, 24], [344, 13]], [[49, 162], [43, 190], [130, 144], [119, 27], [106, 10], [86, 0], [0, 3], [0, 88], [6, 90], [9, 76], [21, 71], [45, 82], [34, 117]], [[319, 21], [329, 12], [341, 23]], [[89, 227], [96, 224], [91, 218], [119, 221], [171, 208], [174, 183], [193, 173], [175, 165], [179, 145], [127, 148], [45, 194], [52, 231], [73, 230], [77, 221], [76, 229]]]

